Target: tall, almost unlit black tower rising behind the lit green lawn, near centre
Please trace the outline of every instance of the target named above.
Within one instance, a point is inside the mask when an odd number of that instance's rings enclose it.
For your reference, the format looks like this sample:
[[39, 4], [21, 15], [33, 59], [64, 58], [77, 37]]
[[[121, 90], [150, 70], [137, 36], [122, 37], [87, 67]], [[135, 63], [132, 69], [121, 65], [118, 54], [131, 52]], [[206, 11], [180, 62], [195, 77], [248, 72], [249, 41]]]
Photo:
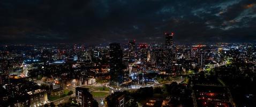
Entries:
[[110, 86], [118, 87], [123, 83], [123, 52], [119, 43], [110, 43]]

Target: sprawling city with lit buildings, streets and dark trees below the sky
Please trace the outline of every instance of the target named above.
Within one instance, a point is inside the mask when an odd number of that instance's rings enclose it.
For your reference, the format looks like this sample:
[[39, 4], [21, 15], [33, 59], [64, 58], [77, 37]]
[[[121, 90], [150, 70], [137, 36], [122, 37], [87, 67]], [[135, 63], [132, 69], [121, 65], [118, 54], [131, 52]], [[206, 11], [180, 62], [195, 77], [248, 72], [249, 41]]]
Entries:
[[0, 106], [253, 106], [255, 43], [180, 45], [173, 36], [123, 46], [2, 45]]

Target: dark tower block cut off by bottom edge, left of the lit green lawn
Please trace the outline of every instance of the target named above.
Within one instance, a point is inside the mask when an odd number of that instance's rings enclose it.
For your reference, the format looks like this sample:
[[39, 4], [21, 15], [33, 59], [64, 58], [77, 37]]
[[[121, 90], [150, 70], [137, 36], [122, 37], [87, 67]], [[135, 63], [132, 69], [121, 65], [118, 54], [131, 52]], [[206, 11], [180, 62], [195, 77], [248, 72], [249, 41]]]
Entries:
[[93, 106], [93, 95], [89, 93], [88, 88], [77, 87], [76, 88], [76, 97], [77, 101], [83, 107], [92, 107]]

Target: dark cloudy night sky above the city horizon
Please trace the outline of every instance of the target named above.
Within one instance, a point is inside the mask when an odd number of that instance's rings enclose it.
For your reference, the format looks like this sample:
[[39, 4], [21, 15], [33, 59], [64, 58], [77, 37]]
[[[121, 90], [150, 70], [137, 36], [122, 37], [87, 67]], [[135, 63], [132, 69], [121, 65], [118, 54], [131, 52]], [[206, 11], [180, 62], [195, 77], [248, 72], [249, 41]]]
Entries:
[[0, 43], [256, 42], [253, 0], [1, 0]]

